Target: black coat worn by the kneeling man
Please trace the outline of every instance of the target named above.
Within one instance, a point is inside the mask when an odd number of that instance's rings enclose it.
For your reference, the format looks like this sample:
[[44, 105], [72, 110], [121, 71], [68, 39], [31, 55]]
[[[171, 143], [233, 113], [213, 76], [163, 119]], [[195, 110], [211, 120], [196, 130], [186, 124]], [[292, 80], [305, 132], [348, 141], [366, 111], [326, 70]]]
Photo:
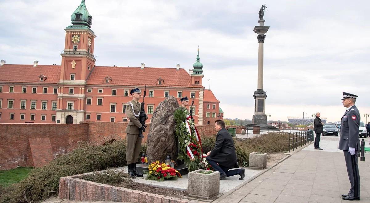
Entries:
[[225, 128], [218, 131], [216, 145], [212, 149], [209, 159], [227, 168], [239, 168], [234, 141]]

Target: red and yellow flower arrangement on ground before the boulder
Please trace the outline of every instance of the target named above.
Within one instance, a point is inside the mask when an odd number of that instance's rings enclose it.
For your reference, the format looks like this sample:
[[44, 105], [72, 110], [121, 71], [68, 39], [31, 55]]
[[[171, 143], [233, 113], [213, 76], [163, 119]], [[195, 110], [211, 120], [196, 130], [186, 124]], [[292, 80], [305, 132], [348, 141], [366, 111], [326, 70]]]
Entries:
[[157, 180], [157, 181], [164, 181], [165, 179], [177, 179], [177, 177], [181, 177], [181, 174], [176, 171], [174, 168], [169, 167], [164, 163], [160, 163], [159, 161], [153, 162], [149, 164], [148, 171], [149, 180]]

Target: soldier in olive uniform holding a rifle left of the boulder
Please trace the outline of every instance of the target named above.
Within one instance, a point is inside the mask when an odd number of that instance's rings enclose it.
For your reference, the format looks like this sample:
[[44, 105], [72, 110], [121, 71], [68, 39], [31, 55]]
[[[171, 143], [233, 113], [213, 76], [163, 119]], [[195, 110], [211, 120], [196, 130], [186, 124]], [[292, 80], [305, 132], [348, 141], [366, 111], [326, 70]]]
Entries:
[[126, 127], [126, 140], [127, 140], [127, 152], [126, 152], [126, 161], [128, 167], [128, 174], [130, 178], [143, 177], [142, 173], [136, 169], [136, 162], [140, 154], [141, 141], [142, 138], [139, 138], [139, 129], [145, 132], [145, 127], [140, 123], [140, 117], [145, 117], [145, 120], [148, 119], [147, 114], [141, 110], [141, 90], [139, 87], [135, 87], [130, 91], [132, 95], [131, 102], [126, 104], [126, 116], [129, 118], [129, 122]]

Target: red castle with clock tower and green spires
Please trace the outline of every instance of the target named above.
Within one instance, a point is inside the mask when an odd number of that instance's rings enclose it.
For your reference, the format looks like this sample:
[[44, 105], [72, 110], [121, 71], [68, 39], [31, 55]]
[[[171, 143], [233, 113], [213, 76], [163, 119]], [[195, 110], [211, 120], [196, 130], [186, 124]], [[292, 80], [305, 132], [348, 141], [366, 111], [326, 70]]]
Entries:
[[38, 61], [14, 65], [1, 60], [0, 123], [127, 121], [129, 90], [139, 86], [143, 91], [144, 85], [149, 118], [168, 96], [194, 98], [196, 124], [212, 125], [213, 120], [223, 117], [220, 102], [202, 86], [199, 49], [189, 73], [179, 64], [176, 68], [151, 68], [144, 63], [140, 67], [95, 66], [96, 35], [91, 30], [92, 17], [85, 0], [72, 14], [71, 23], [64, 29], [61, 65], [38, 65]]

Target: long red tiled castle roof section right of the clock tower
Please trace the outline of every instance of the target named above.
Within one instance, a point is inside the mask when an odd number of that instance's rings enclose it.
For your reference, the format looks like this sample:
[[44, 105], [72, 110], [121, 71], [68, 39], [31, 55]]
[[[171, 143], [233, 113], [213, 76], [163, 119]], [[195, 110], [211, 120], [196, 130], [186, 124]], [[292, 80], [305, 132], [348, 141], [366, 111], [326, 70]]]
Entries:
[[[109, 84], [104, 83], [107, 75], [112, 78]], [[158, 84], [159, 78], [164, 80], [162, 85]], [[202, 85], [192, 85], [191, 76], [182, 68], [176, 70], [176, 68], [95, 66], [86, 83], [88, 85], [202, 87]]]

